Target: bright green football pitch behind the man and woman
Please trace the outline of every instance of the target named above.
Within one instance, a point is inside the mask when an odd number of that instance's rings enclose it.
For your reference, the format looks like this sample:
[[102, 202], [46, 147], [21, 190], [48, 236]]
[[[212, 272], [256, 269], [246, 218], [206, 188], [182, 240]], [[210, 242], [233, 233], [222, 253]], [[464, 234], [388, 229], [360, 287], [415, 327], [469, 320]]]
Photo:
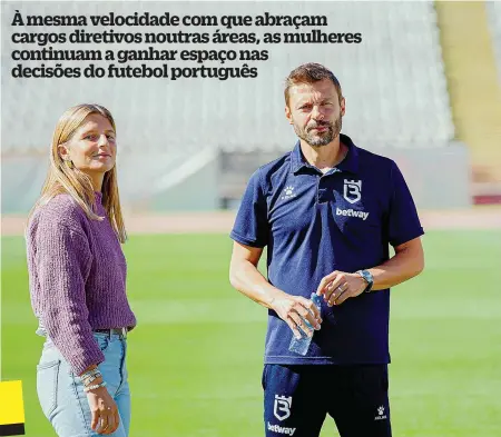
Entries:
[[[394, 436], [501, 436], [501, 231], [430, 231], [424, 272], [392, 291]], [[131, 437], [258, 437], [266, 311], [228, 284], [223, 235], [131, 236]], [[2, 238], [2, 379], [22, 379], [28, 437], [53, 436], [35, 377], [22, 238]], [[314, 401], [314, 400], [312, 400]], [[336, 436], [327, 418], [322, 437]], [[369, 436], [366, 436], [369, 437]]]

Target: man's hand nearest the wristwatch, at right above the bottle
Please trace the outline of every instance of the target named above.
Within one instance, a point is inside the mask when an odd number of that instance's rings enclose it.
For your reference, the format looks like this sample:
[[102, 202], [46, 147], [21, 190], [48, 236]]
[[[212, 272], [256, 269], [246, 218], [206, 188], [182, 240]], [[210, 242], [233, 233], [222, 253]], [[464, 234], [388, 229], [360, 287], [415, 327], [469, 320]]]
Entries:
[[358, 274], [336, 270], [322, 278], [316, 294], [324, 295], [325, 301], [332, 307], [343, 304], [350, 297], [361, 295], [365, 287], [367, 287], [367, 282]]

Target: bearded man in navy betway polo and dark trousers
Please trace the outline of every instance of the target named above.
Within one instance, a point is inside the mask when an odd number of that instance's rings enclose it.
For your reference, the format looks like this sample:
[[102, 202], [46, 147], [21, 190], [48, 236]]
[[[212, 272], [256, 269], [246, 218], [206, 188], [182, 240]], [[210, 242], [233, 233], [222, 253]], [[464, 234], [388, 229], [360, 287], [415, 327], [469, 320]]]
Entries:
[[[266, 436], [318, 436], [328, 414], [342, 437], [387, 437], [390, 287], [422, 271], [423, 229], [395, 162], [341, 133], [328, 69], [292, 71], [285, 102], [298, 141], [252, 176], [230, 235], [232, 285], [268, 308]], [[289, 350], [299, 329], [313, 336], [305, 356]]]

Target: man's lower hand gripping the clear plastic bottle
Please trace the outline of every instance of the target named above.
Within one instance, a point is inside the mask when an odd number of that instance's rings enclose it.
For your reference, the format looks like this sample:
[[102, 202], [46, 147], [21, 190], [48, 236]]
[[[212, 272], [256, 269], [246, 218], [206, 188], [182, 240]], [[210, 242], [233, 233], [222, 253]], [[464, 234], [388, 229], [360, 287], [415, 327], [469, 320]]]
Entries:
[[321, 315], [318, 308], [312, 300], [302, 296], [291, 296], [284, 292], [283, 296], [276, 297], [271, 302], [272, 309], [284, 320], [299, 339], [302, 329], [308, 337], [313, 336], [313, 330], [304, 322], [306, 319], [315, 329], [321, 328]]

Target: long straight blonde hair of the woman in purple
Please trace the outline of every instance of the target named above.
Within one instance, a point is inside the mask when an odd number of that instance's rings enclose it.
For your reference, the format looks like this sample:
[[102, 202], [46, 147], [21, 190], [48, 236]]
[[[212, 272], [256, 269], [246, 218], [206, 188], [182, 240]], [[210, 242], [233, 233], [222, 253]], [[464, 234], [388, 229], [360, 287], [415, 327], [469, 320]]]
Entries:
[[[104, 217], [96, 213], [96, 196], [90, 177], [75, 168], [71, 161], [63, 160], [59, 155], [59, 146], [70, 140], [86, 117], [91, 113], [98, 113], [107, 118], [114, 130], [116, 130], [111, 113], [99, 105], [78, 105], [68, 109], [56, 125], [49, 171], [40, 198], [31, 210], [30, 216], [37, 207], [46, 205], [55, 196], [68, 193], [84, 209], [89, 219], [104, 219]], [[120, 242], [125, 242], [127, 234], [121, 216], [120, 198], [118, 196], [117, 165], [105, 173], [101, 192], [102, 206], [108, 215], [111, 227]]]

